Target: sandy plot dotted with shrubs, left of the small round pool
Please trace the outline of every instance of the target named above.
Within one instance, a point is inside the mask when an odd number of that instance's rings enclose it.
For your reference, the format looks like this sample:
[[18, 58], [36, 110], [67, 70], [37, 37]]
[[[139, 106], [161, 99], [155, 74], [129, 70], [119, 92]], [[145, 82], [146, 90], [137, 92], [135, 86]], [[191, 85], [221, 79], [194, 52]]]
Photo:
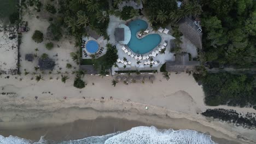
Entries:
[[[45, 48], [45, 44], [48, 43], [50, 40], [47, 40], [46, 38], [46, 30], [50, 23], [45, 19], [37, 19], [34, 15], [25, 15], [23, 16], [23, 20], [28, 21], [28, 27], [30, 27], [30, 31], [22, 33], [22, 44], [20, 45], [21, 73], [24, 73], [25, 69], [30, 74], [40, 73], [40, 71], [36, 71], [34, 67], [37, 67], [38, 59], [43, 53], [47, 53], [49, 58], [55, 61], [56, 65], [53, 69], [53, 74], [56, 74], [57, 71], [59, 71], [60, 73], [65, 73], [66, 71], [67, 73], [71, 73], [72, 71], [78, 69], [78, 65], [73, 62], [72, 58], [70, 57], [71, 52], [78, 50], [78, 48], [74, 47], [74, 38], [62, 38], [60, 41], [51, 41], [54, 43], [54, 47], [51, 50], [47, 50]], [[32, 35], [36, 30], [41, 31], [44, 34], [44, 41], [42, 43], [38, 44], [34, 42], [34, 40], [32, 40]], [[36, 48], [38, 49], [38, 51], [35, 50]], [[34, 55], [37, 55], [38, 57], [36, 57], [33, 62], [25, 61], [25, 55], [27, 53], [32, 53]], [[58, 56], [55, 56], [56, 54]], [[70, 63], [73, 68], [67, 69], [67, 63]]]

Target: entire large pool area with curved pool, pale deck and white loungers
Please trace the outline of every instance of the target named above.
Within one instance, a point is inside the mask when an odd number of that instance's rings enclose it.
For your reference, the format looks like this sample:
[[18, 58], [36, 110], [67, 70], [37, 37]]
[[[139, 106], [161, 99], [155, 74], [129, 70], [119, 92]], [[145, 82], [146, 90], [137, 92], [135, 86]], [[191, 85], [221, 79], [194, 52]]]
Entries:
[[109, 41], [117, 46], [118, 59], [112, 74], [129, 70], [159, 71], [166, 61], [174, 61], [167, 28], [154, 31], [148, 20], [141, 16], [128, 22], [110, 16]]

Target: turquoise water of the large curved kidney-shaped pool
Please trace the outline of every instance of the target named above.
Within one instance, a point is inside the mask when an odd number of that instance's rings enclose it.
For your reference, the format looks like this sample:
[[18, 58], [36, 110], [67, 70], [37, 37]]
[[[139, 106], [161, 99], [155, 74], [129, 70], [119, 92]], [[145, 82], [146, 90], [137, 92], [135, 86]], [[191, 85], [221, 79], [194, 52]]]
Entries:
[[152, 51], [161, 42], [161, 36], [159, 34], [149, 34], [142, 39], [136, 37], [137, 32], [141, 29], [147, 29], [148, 23], [143, 20], [135, 20], [129, 23], [129, 28], [131, 30], [131, 39], [127, 46], [130, 49], [139, 54], [144, 54]]

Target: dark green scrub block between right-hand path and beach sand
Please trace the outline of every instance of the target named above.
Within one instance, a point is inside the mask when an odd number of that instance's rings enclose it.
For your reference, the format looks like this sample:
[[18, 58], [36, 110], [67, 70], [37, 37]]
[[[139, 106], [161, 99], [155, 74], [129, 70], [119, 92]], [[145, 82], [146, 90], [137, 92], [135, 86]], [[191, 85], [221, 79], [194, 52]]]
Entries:
[[200, 79], [205, 92], [205, 103], [210, 106], [256, 105], [256, 76], [245, 74], [206, 74]]

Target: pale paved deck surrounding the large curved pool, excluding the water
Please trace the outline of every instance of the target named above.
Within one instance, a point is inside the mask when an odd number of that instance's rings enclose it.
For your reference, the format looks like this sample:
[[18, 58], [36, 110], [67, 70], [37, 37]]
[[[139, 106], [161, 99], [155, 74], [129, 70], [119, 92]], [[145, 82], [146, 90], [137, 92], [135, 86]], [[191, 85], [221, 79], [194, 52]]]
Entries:
[[[144, 21], [146, 21], [147, 23], [148, 20], [146, 19], [146, 17], [138, 17], [138, 19], [142, 19]], [[166, 51], [164, 54], [158, 54], [156, 57], [153, 57], [154, 61], [159, 61], [158, 64], [153, 64], [152, 68], [150, 68], [150, 65], [144, 65], [144, 61], [148, 61], [149, 59], [143, 60], [141, 59], [139, 64], [137, 64], [137, 60], [135, 58], [131, 58], [129, 55], [127, 55], [127, 53], [125, 53], [121, 47], [123, 47], [124, 45], [121, 45], [118, 43], [118, 41], [115, 41], [115, 37], [114, 37], [114, 29], [115, 27], [118, 27], [121, 23], [126, 23], [126, 21], [120, 20], [118, 17], [115, 16], [110, 16], [110, 22], [109, 22], [109, 27], [108, 27], [108, 34], [109, 34], [109, 42], [113, 45], [117, 46], [118, 49], [118, 57], [120, 59], [123, 59], [124, 57], [127, 59], [127, 62], [130, 61], [131, 65], [126, 65], [126, 68], [124, 68], [124, 64], [123, 63], [117, 63], [118, 67], [112, 67], [112, 75], [114, 75], [115, 71], [119, 71], [119, 70], [158, 70], [160, 71], [160, 68], [162, 66], [162, 64], [164, 64], [166, 61], [174, 61], [174, 53], [170, 52], [170, 40], [171, 39], [175, 39], [174, 37], [172, 37], [172, 35], [170, 34], [165, 34], [165, 33], [160, 33], [158, 31], [153, 31], [153, 28], [150, 27], [150, 25], [148, 26], [149, 29], [149, 33], [148, 34], [159, 34], [162, 38], [161, 43], [159, 44], [159, 46], [162, 46], [165, 41], [167, 42], [167, 46], [166, 46]], [[158, 50], [158, 46], [155, 47], [155, 49], [153, 49], [152, 51]], [[130, 50], [129, 48], [127, 50]], [[131, 51], [131, 50], [130, 50]], [[150, 51], [150, 52], [152, 52]], [[143, 56], [149, 55], [149, 53], [145, 53], [143, 54]], [[137, 55], [139, 56], [139, 54], [134, 53], [131, 51], [131, 53], [133, 53], [133, 55]]]

